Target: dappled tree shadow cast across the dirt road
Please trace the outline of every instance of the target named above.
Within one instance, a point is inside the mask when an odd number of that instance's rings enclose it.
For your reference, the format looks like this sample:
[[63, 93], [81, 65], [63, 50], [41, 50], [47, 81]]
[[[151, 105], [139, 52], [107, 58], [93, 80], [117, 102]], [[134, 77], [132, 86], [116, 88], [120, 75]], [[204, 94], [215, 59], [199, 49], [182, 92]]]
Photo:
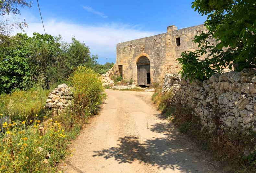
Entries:
[[119, 164], [139, 161], [162, 169], [204, 172], [198, 158], [191, 156], [190, 148], [184, 140], [179, 140], [179, 133], [169, 123], [156, 123], [150, 130], [163, 133], [164, 137], [141, 141], [136, 136], [124, 136], [118, 139], [118, 147], [94, 151], [93, 156], [114, 158]]

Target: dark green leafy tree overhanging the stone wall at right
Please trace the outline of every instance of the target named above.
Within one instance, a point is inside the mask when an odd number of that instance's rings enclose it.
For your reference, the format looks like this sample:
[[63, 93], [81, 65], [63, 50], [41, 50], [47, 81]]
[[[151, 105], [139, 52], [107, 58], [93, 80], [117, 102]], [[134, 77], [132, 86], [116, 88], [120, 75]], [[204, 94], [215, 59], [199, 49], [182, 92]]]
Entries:
[[[192, 8], [208, 15], [204, 23], [208, 32], [195, 36], [198, 50], [182, 52], [177, 59], [182, 64], [182, 76], [207, 79], [226, 67], [232, 69], [232, 65], [237, 71], [256, 67], [255, 0], [195, 0]], [[204, 54], [207, 57], [200, 61]]]

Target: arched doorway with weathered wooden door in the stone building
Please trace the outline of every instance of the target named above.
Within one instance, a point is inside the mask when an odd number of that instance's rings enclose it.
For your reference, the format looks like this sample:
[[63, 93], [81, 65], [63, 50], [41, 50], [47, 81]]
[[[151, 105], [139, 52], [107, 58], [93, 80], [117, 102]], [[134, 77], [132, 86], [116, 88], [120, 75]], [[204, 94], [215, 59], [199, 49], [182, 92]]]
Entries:
[[150, 85], [150, 61], [146, 56], [141, 56], [137, 61], [137, 79], [138, 85]]

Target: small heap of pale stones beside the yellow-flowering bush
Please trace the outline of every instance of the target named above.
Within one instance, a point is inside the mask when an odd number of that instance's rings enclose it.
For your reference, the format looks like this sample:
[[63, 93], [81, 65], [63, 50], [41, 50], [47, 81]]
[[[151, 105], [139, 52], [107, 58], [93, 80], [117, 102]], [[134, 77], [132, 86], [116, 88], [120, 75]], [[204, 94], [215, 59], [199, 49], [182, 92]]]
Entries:
[[73, 93], [71, 87], [66, 84], [58, 85], [57, 88], [51, 91], [46, 100], [46, 108], [62, 110], [64, 107], [71, 106], [71, 99], [73, 98]]

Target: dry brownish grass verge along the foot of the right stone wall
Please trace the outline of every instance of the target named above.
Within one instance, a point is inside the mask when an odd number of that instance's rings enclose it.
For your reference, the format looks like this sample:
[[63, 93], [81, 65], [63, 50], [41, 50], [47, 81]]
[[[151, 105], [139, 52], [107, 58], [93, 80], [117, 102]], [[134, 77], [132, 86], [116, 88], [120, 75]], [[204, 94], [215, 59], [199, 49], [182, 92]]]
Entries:
[[216, 129], [208, 133], [202, 127], [200, 118], [192, 114], [192, 110], [182, 105], [170, 105], [171, 95], [170, 92], [162, 94], [161, 89], [158, 88], [152, 100], [163, 115], [177, 126], [180, 133], [188, 134], [198, 146], [219, 160], [223, 167], [229, 168], [228, 172], [256, 172], [256, 153], [244, 156], [245, 149], [253, 150], [255, 147], [255, 132], [219, 133]]

